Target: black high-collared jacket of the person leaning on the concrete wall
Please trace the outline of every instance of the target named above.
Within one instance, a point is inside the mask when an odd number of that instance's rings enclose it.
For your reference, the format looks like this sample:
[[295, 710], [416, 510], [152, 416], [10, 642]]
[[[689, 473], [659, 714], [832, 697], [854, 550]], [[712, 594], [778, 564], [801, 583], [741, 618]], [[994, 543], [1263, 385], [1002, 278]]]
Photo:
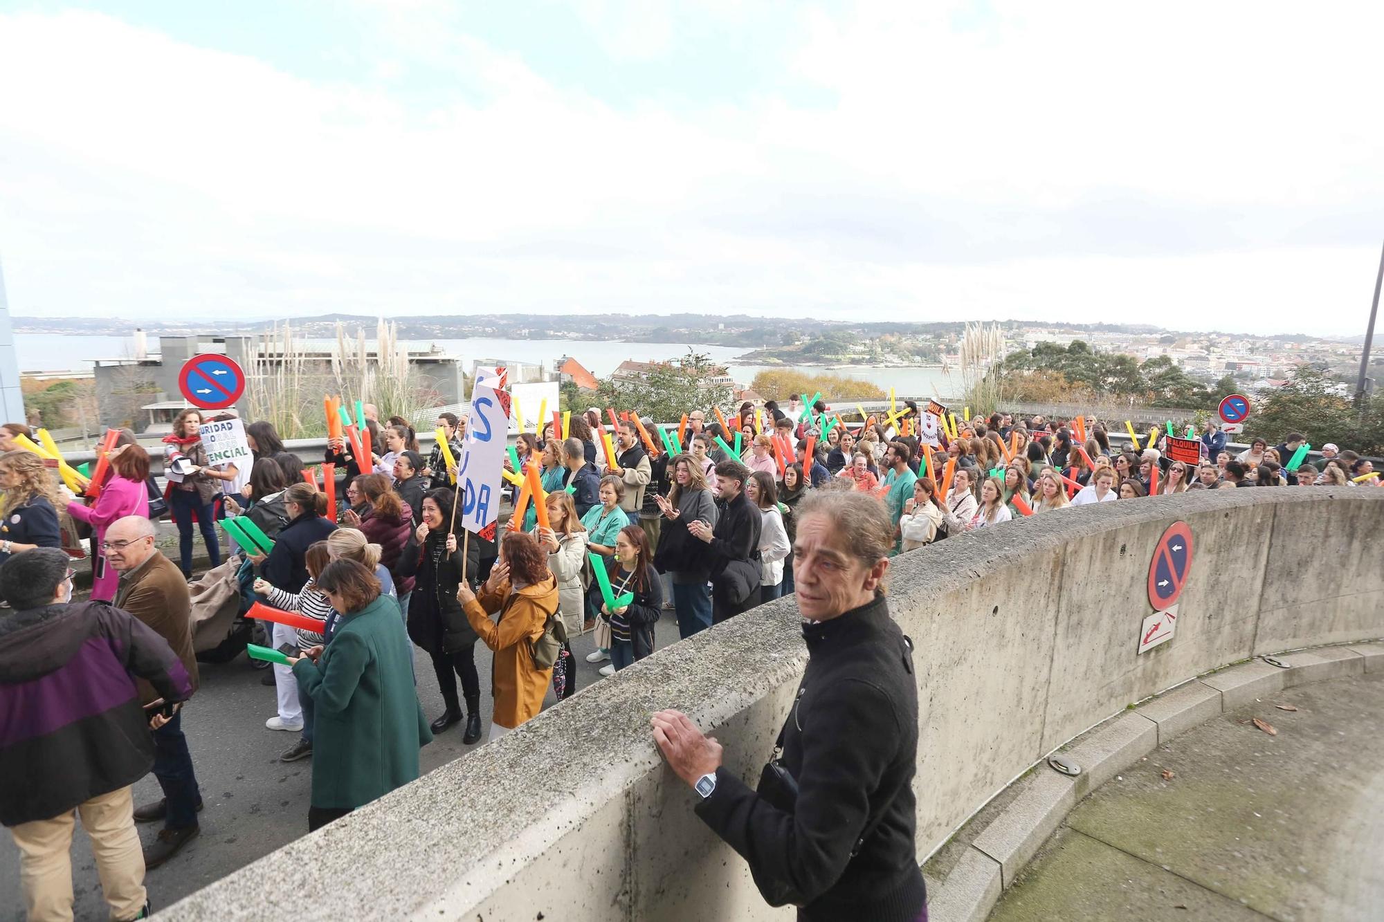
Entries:
[[883, 595], [804, 623], [803, 637], [810, 659], [779, 760], [797, 779], [792, 811], [770, 806], [722, 767], [696, 814], [749, 862], [761, 892], [787, 887], [803, 907], [799, 918], [912, 922], [926, 894], [913, 850], [911, 651]]

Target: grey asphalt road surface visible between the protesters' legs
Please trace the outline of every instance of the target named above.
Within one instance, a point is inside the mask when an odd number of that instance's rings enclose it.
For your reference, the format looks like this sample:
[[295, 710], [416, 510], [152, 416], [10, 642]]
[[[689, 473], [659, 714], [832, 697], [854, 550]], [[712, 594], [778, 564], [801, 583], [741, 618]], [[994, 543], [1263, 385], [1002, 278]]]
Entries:
[[[597, 670], [603, 663], [590, 665], [585, 655], [594, 649], [592, 634], [572, 641], [580, 665], [577, 694], [601, 681]], [[664, 611], [655, 631], [657, 647], [678, 640], [677, 619]], [[476, 644], [476, 670], [480, 673], [482, 727], [490, 728], [490, 651]], [[418, 677], [418, 699], [429, 720], [443, 710], [437, 678], [432, 660], [414, 649]], [[275, 714], [274, 688], [260, 685], [262, 671], [249, 666], [245, 656], [231, 663], [201, 665], [201, 688], [184, 710], [183, 728], [188, 736], [192, 763], [197, 767], [205, 808], [199, 815], [202, 833], [184, 846], [163, 867], [145, 875], [145, 886], [154, 908], [166, 908], [188, 893], [216, 880], [237, 868], [292, 842], [307, 832], [307, 806], [311, 789], [313, 761], [278, 761], [280, 753], [298, 741], [298, 734], [273, 731], [264, 721]], [[544, 709], [554, 706], [549, 687]], [[461, 742], [465, 724], [457, 724], [439, 734], [422, 749], [422, 770], [432, 771], [454, 759], [464, 759], [473, 746]], [[7, 779], [3, 784], [10, 784]], [[134, 785], [134, 802], [143, 804], [162, 796], [154, 775]], [[145, 842], [152, 839], [161, 824], [140, 826]], [[78, 824], [72, 849], [72, 885], [75, 916], [78, 919], [105, 919], [107, 907], [101, 898], [91, 847]], [[19, 857], [10, 836], [0, 836], [0, 921], [22, 922], [19, 897]]]

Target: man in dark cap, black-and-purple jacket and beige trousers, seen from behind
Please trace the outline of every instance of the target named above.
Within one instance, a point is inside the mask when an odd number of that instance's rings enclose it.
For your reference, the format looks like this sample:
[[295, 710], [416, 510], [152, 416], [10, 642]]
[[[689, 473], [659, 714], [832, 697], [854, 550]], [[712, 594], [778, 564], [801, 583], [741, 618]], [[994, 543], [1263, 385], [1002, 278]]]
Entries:
[[[0, 822], [19, 849], [29, 918], [72, 916], [73, 808], [91, 838], [113, 919], [149, 914], [131, 785], [154, 766], [149, 728], [192, 694], [162, 637], [107, 602], [72, 604], [68, 555], [15, 554], [0, 566]], [[162, 703], [140, 707], [136, 678]]]

